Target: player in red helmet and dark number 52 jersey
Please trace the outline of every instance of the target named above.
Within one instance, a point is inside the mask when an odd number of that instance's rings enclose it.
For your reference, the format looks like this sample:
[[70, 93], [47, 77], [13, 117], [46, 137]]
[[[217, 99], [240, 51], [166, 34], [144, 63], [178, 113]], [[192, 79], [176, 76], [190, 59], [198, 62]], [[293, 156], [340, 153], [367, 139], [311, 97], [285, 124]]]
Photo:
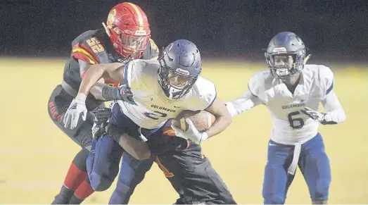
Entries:
[[[86, 71], [94, 66], [107, 66], [114, 62], [126, 62], [136, 58], [156, 59], [158, 48], [151, 37], [148, 20], [139, 6], [122, 3], [108, 13], [104, 29], [83, 32], [72, 41], [72, 53], [65, 63], [63, 81], [56, 86], [49, 99], [49, 116], [82, 150], [73, 159], [61, 192], [52, 204], [80, 204], [94, 190], [87, 178], [86, 160], [91, 150], [93, 113], [104, 106], [106, 92], [110, 90], [108, 80], [101, 79], [91, 88], [85, 103], [88, 112], [75, 129], [65, 128], [63, 118], [73, 98], [77, 96]], [[116, 87], [118, 84], [114, 84]], [[119, 87], [120, 99], [129, 101], [132, 94], [127, 87]], [[112, 170], [118, 174], [118, 168]]]

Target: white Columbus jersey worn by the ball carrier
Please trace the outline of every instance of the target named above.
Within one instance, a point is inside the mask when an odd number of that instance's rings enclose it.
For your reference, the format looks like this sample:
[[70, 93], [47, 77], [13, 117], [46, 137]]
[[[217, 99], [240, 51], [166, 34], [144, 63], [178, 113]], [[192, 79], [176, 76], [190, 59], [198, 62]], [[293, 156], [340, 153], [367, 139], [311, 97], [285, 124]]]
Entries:
[[199, 111], [215, 100], [215, 85], [198, 77], [189, 92], [181, 99], [169, 99], [158, 82], [156, 60], [134, 60], [125, 68], [125, 82], [133, 93], [137, 105], [118, 101], [121, 111], [141, 128], [162, 126], [167, 119], [176, 118], [184, 110]]

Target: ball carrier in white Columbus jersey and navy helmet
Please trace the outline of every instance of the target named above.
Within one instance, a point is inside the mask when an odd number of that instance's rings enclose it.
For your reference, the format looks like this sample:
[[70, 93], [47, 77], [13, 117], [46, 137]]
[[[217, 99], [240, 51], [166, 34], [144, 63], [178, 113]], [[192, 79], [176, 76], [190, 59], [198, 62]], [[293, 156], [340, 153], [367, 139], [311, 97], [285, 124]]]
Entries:
[[[87, 112], [84, 99], [91, 87], [101, 77], [105, 77], [127, 85], [134, 96], [135, 104], [129, 104], [119, 100], [118, 88], [111, 87], [112, 91], [108, 92], [106, 100], [118, 99], [118, 103], [113, 106], [110, 124], [119, 128], [121, 133], [136, 138], [141, 135], [147, 139], [160, 137], [160, 128], [168, 119], [176, 118], [182, 111], [206, 110], [215, 116], [215, 123], [207, 131], [199, 132], [187, 119], [189, 129], [180, 136], [195, 143], [203, 142], [227, 128], [231, 123], [231, 115], [217, 98], [215, 85], [200, 77], [200, 73], [201, 54], [195, 44], [184, 39], [166, 46], [158, 61], [134, 60], [122, 63], [120, 68], [116, 68], [116, 65], [90, 68], [82, 80], [77, 97], [65, 114], [64, 123], [71, 127], [77, 125], [80, 114]], [[94, 142], [94, 151], [87, 158], [87, 170], [94, 190], [103, 191], [110, 187], [115, 178], [109, 169], [118, 168], [116, 159], [120, 159], [124, 151], [118, 144], [120, 135], [101, 137]], [[139, 161], [125, 153], [117, 189], [110, 203], [126, 203], [120, 199], [129, 200], [135, 186], [151, 168], [153, 160]]]

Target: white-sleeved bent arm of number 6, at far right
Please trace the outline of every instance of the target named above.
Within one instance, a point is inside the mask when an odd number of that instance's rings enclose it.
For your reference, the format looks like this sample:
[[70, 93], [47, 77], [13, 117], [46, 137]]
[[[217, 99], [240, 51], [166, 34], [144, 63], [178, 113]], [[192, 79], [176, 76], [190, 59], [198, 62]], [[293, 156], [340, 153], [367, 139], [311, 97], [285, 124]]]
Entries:
[[326, 98], [322, 101], [322, 105], [325, 109], [324, 120], [321, 121], [323, 125], [343, 123], [345, 121], [345, 111], [340, 101], [338, 101], [334, 90], [331, 90], [331, 92], [326, 95]]

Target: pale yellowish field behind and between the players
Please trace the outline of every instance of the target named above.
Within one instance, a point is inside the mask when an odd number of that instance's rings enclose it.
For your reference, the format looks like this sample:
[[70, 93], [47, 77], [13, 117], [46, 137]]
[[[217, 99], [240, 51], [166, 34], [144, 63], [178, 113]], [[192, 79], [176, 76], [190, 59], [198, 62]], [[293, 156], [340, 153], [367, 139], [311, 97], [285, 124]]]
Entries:
[[[64, 60], [0, 58], [0, 204], [49, 204], [80, 147], [53, 124], [47, 102], [62, 80]], [[264, 64], [206, 61], [203, 76], [228, 101], [246, 91]], [[368, 204], [368, 70], [332, 67], [335, 91], [345, 108], [341, 125], [320, 126], [332, 168], [330, 204]], [[42, 76], [42, 77], [41, 77]], [[263, 168], [271, 118], [259, 106], [234, 118], [221, 135], [203, 143], [203, 152], [239, 204], [262, 204]], [[107, 204], [113, 187], [84, 204]], [[131, 204], [172, 204], [176, 192], [156, 165], [134, 192]], [[287, 204], [310, 203], [298, 173]]]

